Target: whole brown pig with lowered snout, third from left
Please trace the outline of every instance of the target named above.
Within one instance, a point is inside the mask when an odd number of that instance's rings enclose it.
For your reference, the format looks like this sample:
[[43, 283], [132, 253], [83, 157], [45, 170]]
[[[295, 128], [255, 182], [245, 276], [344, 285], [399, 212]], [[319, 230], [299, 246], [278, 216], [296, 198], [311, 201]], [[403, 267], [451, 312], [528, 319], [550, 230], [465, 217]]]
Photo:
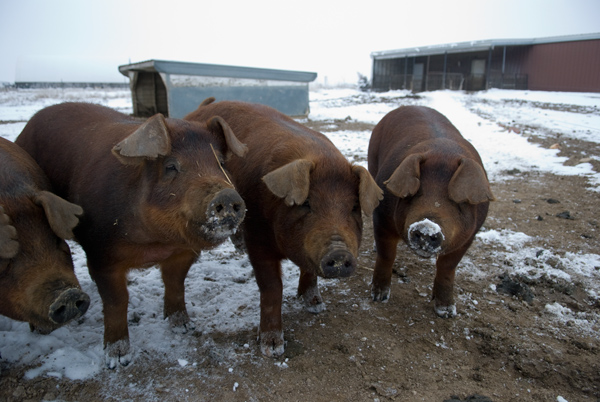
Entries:
[[260, 291], [260, 350], [281, 355], [281, 260], [300, 268], [298, 296], [305, 309], [321, 312], [317, 277], [354, 272], [361, 210], [370, 215], [383, 191], [323, 134], [268, 106], [214, 100], [184, 119], [220, 116], [248, 144], [246, 158], [233, 157], [227, 167], [247, 206], [242, 233]]

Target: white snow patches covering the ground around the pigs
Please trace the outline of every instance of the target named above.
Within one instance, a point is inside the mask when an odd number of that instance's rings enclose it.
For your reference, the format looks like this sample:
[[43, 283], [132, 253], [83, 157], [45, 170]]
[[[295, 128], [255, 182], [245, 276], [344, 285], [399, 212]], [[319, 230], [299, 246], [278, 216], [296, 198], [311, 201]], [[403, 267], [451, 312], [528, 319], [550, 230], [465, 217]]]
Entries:
[[[544, 149], [528, 142], [526, 133], [507, 130], [518, 122], [521, 129], [536, 135], [577, 136], [600, 142], [600, 94], [554, 93], [536, 91], [490, 90], [476, 94], [436, 91], [411, 97], [408, 92], [363, 93], [354, 89], [321, 89], [311, 91], [311, 120], [336, 119], [377, 123], [387, 112], [400, 104], [431, 106], [445, 114], [463, 136], [480, 152], [490, 180], [504, 180], [507, 170], [538, 171], [564, 176], [585, 176], [591, 187], [599, 191], [600, 174], [589, 163], [565, 166], [565, 158], [557, 150]], [[26, 121], [43, 107], [64, 101], [86, 101], [131, 113], [130, 92], [125, 89], [44, 89], [0, 90], [0, 136], [13, 140]], [[540, 107], [543, 106], [543, 107]], [[551, 108], [549, 106], [556, 106]], [[564, 107], [564, 106], [568, 107]], [[569, 107], [577, 112], [570, 112]], [[555, 110], [560, 109], [560, 110]], [[582, 113], [582, 110], [585, 113]], [[480, 117], [491, 115], [490, 119]], [[527, 125], [528, 127], [523, 127]], [[369, 131], [334, 131], [326, 133], [351, 161], [366, 166]], [[483, 230], [473, 247], [491, 248], [490, 260], [514, 261], [515, 273], [529, 276], [547, 275], [566, 281], [577, 278], [587, 285], [590, 296], [600, 294], [600, 256], [568, 253], [555, 255], [546, 250], [541, 255], [528, 243], [531, 237], [509, 229]], [[102, 350], [102, 304], [95, 284], [87, 272], [82, 249], [70, 243], [77, 277], [91, 298], [86, 315], [49, 335], [31, 333], [27, 323], [0, 317], [0, 353], [2, 359], [14, 364], [35, 366], [27, 378], [51, 376], [72, 380], [91, 378], [104, 370]], [[553, 260], [553, 262], [551, 261]], [[535, 261], [535, 264], [531, 264]], [[499, 265], [496, 263], [496, 265]], [[496, 271], [507, 269], [493, 266]], [[485, 276], [468, 257], [459, 265], [459, 274]], [[493, 271], [493, 270], [492, 270]], [[492, 272], [490, 271], [490, 272]], [[298, 269], [291, 262], [283, 263], [284, 312], [300, 310], [296, 299]], [[322, 280], [324, 285], [336, 280]], [[335, 288], [335, 286], [332, 286]], [[190, 346], [189, 335], [173, 333], [162, 316], [163, 285], [158, 269], [135, 270], [129, 275], [129, 331], [133, 348], [133, 364], [140, 351], [163, 356], [174, 367], [194, 366], [198, 359]], [[343, 292], [343, 290], [340, 290]], [[235, 332], [256, 329], [259, 322], [259, 294], [252, 268], [245, 255], [236, 254], [227, 241], [222, 246], [202, 253], [186, 280], [188, 312], [203, 333]], [[369, 304], [365, 303], [365, 308]], [[559, 304], [546, 306], [548, 317], [576, 321], [585, 328], [585, 317], [579, 317]], [[589, 325], [588, 325], [589, 326]], [[260, 353], [258, 347], [253, 353]], [[285, 368], [285, 363], [281, 364]], [[233, 389], [238, 384], [233, 385]], [[562, 400], [558, 397], [557, 400]]]

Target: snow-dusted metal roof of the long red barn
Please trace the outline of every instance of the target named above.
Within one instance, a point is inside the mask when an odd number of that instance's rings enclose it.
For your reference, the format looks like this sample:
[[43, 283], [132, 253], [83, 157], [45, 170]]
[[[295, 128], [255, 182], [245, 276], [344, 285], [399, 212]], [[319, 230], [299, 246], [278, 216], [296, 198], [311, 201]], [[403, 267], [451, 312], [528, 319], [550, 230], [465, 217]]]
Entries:
[[582, 40], [598, 40], [600, 33], [553, 36], [534, 39], [489, 39], [469, 42], [447, 43], [442, 45], [410, 47], [405, 49], [382, 50], [372, 52], [371, 58], [376, 60], [395, 59], [399, 57], [432, 56], [444, 53], [480, 52], [496, 46], [531, 46], [543, 43], [575, 42]]

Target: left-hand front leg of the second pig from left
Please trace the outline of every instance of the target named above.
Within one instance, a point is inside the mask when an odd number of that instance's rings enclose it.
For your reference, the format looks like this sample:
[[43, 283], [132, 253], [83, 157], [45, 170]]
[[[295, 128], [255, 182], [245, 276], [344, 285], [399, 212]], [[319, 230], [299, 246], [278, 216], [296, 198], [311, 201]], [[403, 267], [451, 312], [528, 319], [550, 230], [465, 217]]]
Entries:
[[127, 277], [125, 269], [92, 269], [90, 275], [98, 286], [104, 307], [104, 355], [106, 366], [114, 369], [117, 362], [127, 366], [131, 360], [127, 328]]

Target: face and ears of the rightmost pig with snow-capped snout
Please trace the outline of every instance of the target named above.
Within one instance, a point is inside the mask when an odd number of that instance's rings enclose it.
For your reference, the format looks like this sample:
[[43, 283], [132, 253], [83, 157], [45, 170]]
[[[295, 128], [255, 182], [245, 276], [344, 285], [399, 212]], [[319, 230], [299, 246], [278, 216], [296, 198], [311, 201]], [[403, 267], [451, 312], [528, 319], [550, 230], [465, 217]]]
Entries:
[[434, 153], [408, 156], [385, 182], [401, 198], [404, 226], [398, 228], [422, 257], [464, 246], [476, 224], [475, 205], [494, 199], [485, 172], [469, 158]]

